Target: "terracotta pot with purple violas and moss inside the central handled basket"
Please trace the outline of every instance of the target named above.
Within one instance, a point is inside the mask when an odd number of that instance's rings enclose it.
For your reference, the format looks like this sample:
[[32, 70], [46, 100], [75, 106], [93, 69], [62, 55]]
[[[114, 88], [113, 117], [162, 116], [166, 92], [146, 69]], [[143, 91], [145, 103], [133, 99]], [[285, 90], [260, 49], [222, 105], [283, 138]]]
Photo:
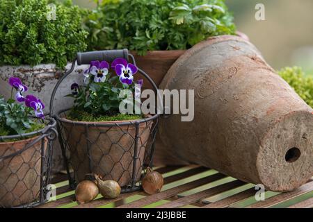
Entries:
[[120, 113], [125, 89], [131, 94], [128, 102], [137, 99], [140, 105], [143, 80], [134, 80], [138, 68], [125, 58], [113, 60], [111, 68], [115, 73], [110, 73], [109, 62], [90, 62], [84, 85], [73, 83], [67, 95], [74, 98], [73, 108], [61, 112], [58, 123], [76, 182], [95, 173], [127, 187], [141, 178], [154, 120], [141, 113]]

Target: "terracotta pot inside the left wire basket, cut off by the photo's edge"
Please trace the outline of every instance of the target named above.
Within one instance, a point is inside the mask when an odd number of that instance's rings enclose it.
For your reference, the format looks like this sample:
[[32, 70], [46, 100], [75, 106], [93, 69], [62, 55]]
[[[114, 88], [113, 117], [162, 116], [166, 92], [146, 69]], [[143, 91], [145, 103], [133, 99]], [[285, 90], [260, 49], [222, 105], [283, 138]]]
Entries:
[[[12, 155], [38, 139], [0, 143], [0, 157]], [[45, 142], [45, 149], [47, 142]], [[32, 203], [40, 195], [41, 139], [22, 153], [0, 161], [0, 206]]]

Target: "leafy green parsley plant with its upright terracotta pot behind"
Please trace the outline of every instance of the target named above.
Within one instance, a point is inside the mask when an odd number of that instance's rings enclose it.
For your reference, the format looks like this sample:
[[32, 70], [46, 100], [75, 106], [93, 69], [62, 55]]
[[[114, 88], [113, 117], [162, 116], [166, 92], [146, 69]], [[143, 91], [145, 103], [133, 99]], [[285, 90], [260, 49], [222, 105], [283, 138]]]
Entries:
[[[90, 50], [129, 49], [159, 85], [186, 49], [217, 35], [234, 35], [224, 0], [96, 1], [84, 26]], [[152, 88], [145, 81], [145, 88]]]

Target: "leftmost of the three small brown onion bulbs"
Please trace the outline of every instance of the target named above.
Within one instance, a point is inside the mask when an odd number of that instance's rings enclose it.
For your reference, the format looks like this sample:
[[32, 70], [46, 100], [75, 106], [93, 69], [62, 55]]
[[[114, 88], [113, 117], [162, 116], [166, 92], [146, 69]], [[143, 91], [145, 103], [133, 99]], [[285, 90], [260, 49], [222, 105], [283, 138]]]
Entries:
[[99, 194], [99, 189], [95, 182], [90, 180], [83, 180], [79, 182], [75, 189], [75, 196], [77, 203], [87, 203], [94, 200]]

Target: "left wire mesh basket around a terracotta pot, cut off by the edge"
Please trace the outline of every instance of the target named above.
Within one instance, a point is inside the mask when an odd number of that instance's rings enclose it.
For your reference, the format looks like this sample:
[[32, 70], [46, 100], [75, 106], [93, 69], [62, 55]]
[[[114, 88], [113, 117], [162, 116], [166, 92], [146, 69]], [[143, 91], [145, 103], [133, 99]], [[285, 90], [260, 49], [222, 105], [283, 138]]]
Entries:
[[35, 207], [47, 201], [56, 121], [42, 130], [0, 137], [0, 207]]

